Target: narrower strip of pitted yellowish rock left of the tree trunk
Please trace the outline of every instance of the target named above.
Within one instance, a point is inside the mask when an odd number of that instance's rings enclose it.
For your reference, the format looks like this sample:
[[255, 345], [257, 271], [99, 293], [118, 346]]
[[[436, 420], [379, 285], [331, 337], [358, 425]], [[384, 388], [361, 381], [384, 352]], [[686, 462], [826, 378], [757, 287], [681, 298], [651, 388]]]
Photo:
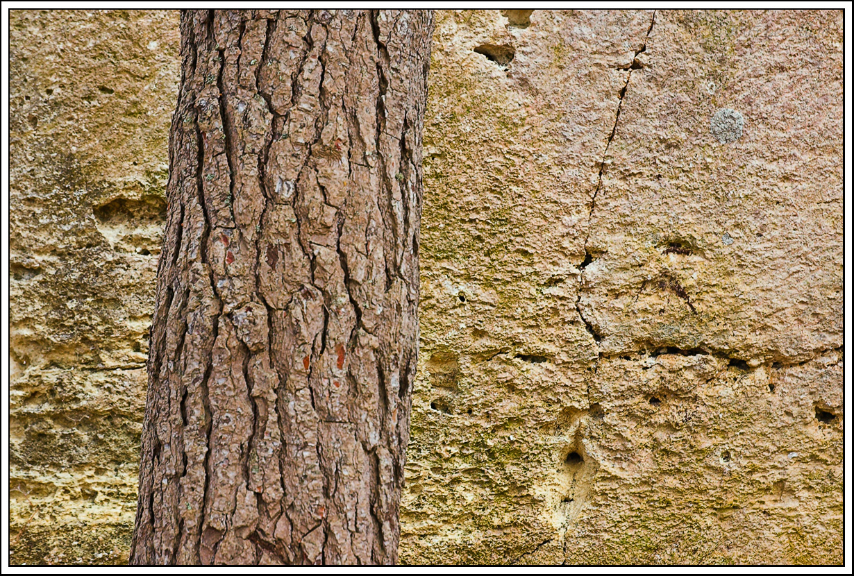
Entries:
[[178, 14], [10, 14], [10, 561], [126, 561]]

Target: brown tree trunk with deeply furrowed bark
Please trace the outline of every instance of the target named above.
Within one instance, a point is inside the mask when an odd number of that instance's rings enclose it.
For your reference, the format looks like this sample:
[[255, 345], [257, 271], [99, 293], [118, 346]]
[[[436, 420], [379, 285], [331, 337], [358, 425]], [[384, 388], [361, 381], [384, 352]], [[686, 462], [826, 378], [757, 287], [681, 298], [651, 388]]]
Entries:
[[190, 10], [134, 564], [397, 559], [430, 10]]

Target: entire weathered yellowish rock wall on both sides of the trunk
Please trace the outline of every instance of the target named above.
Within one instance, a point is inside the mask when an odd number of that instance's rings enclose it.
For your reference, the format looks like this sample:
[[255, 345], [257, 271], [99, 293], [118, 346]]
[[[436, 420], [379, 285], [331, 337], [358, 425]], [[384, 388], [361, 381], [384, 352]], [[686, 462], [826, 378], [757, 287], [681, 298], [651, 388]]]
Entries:
[[[178, 15], [11, 42], [12, 561], [120, 561]], [[841, 95], [839, 11], [437, 13], [401, 561], [842, 561]]]

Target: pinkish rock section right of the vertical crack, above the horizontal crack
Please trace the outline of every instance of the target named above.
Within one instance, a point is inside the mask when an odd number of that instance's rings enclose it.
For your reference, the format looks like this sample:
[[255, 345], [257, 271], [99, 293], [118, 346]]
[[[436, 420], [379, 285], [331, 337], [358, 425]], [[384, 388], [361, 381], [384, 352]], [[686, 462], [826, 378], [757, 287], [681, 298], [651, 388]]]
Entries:
[[[590, 221], [581, 309], [605, 354], [842, 345], [841, 17], [658, 15]], [[711, 132], [719, 108], [744, 117], [734, 142]]]

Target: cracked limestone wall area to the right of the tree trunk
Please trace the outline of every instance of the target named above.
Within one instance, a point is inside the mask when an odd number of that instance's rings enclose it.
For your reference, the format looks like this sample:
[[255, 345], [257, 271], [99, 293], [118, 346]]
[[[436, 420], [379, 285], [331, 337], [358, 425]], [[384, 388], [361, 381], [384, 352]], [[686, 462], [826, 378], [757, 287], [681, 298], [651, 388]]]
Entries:
[[440, 16], [403, 561], [842, 560], [841, 17]]

